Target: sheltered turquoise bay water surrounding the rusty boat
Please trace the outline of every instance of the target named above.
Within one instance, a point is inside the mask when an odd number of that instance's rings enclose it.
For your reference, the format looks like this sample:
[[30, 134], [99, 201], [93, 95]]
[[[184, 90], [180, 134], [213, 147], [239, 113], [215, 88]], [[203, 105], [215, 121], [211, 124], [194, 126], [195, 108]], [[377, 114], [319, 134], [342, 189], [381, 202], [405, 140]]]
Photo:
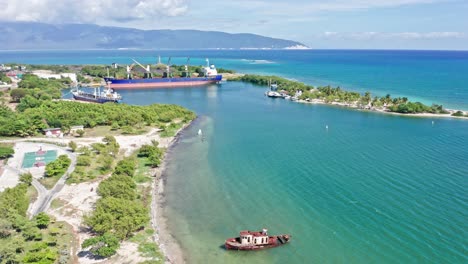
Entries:
[[[263, 92], [226, 83], [123, 93], [201, 115], [171, 153], [165, 188], [164, 213], [190, 263], [468, 260], [468, 122], [432, 125]], [[293, 241], [255, 253], [219, 248], [262, 227]]]

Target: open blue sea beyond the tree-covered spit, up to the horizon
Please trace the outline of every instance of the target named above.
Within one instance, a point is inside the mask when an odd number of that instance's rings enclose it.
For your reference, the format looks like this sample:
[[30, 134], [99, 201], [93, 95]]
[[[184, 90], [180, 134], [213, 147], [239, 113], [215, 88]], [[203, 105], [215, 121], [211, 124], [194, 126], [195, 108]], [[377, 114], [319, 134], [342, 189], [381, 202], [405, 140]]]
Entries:
[[127, 65], [205, 64], [245, 73], [275, 74], [312, 85], [339, 85], [373, 95], [406, 96], [426, 104], [468, 110], [468, 51], [388, 50], [94, 50], [0, 51], [0, 63]]

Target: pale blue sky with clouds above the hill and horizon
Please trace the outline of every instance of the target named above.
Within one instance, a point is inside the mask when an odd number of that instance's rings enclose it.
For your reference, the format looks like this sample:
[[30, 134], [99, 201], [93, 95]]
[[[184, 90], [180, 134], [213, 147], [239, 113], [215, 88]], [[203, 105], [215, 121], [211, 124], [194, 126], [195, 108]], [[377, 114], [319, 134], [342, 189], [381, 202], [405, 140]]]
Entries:
[[[25, 2], [30, 2], [29, 4]], [[254, 33], [311, 48], [468, 50], [468, 0], [0, 0], [0, 17]]]

